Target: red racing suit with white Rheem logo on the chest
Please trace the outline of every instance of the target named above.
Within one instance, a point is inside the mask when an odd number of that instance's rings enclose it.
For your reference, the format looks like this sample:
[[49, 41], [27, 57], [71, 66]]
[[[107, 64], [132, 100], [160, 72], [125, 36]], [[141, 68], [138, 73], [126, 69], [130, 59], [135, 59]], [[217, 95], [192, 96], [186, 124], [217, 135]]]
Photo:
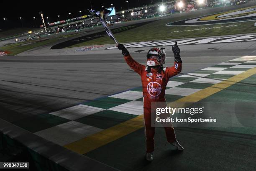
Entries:
[[[139, 64], [129, 54], [124, 56], [126, 63], [141, 76], [143, 87], [143, 111], [145, 121], [146, 134], [146, 151], [151, 153], [154, 151], [154, 135], [155, 127], [151, 126], [151, 102], [166, 102], [165, 89], [170, 77], [177, 75], [182, 70], [182, 63], [174, 62], [174, 66], [165, 67], [161, 74], [156, 69], [151, 69], [151, 73], [147, 72], [147, 67]], [[174, 128], [165, 126], [166, 138], [169, 143], [176, 140]]]

